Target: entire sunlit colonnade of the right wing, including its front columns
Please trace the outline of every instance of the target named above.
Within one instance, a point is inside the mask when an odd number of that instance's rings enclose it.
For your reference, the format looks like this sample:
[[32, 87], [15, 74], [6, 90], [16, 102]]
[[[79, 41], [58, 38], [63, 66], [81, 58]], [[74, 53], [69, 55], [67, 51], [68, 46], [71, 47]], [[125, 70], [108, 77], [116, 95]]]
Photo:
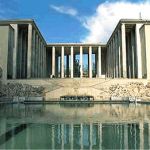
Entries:
[[140, 27], [121, 23], [107, 44], [107, 77], [142, 78]]

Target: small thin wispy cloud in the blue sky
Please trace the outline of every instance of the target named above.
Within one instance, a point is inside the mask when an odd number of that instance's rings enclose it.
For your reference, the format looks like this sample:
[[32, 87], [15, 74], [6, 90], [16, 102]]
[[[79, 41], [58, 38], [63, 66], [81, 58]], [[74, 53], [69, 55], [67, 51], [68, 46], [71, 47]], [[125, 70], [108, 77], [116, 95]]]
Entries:
[[78, 11], [71, 7], [50, 5], [50, 8], [54, 9], [55, 11], [59, 13], [67, 14], [70, 16], [77, 16], [78, 14]]

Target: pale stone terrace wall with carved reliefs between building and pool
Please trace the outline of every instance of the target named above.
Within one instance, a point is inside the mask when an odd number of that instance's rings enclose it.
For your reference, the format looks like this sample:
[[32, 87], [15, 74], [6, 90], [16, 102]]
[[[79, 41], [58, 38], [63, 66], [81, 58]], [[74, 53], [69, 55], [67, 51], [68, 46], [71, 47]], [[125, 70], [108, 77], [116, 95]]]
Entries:
[[[34, 88], [32, 89], [31, 87], [44, 87], [40, 94], [44, 96], [45, 100], [59, 100], [60, 96], [65, 95], [90, 95], [94, 96], [95, 100], [110, 100], [111, 97], [136, 97], [150, 100], [150, 81], [146, 79], [77, 78], [8, 80], [7, 86], [12, 87], [16, 83], [19, 87], [26, 85], [24, 88], [17, 88], [18, 90], [22, 89], [21, 93], [24, 93], [24, 95], [34, 96], [34, 94], [39, 93], [34, 92]], [[15, 91], [16, 95], [19, 95], [19, 92]], [[15, 94], [13, 93], [13, 95]]]

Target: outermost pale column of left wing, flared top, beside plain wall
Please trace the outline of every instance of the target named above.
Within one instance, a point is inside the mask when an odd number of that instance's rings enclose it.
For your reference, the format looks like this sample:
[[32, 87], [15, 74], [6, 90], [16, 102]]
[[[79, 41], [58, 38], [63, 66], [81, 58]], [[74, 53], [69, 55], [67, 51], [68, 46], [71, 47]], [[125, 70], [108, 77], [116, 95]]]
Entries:
[[17, 71], [17, 49], [18, 49], [18, 24], [12, 24], [14, 28], [14, 49], [13, 49], [13, 79], [16, 79]]

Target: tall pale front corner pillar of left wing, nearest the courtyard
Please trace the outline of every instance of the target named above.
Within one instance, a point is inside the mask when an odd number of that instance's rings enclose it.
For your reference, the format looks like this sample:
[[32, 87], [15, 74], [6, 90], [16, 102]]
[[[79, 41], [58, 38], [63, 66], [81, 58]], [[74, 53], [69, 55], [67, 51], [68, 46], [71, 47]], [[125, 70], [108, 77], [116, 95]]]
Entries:
[[31, 78], [32, 24], [28, 25], [27, 78]]

